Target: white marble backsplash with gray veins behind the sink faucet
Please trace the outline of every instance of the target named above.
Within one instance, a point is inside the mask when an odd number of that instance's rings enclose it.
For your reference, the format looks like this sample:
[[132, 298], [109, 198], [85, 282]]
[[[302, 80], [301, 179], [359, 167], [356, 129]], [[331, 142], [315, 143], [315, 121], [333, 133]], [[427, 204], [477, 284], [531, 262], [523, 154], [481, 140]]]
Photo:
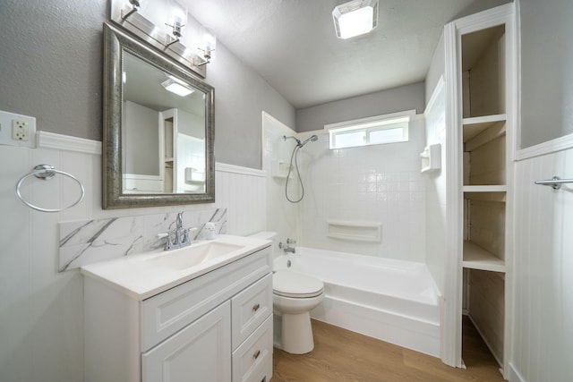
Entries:
[[[167, 214], [109, 217], [59, 223], [59, 271], [98, 261], [158, 250], [175, 227], [177, 212]], [[204, 239], [205, 223], [213, 222], [217, 233], [227, 233], [227, 208], [183, 211], [184, 227], [196, 227], [193, 240]]]

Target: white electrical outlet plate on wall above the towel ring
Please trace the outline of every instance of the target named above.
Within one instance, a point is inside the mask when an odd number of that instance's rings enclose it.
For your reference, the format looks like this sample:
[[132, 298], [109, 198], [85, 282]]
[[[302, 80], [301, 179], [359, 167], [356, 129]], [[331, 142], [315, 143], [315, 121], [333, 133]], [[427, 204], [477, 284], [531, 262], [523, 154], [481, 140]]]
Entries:
[[0, 145], [35, 148], [36, 118], [0, 110]]

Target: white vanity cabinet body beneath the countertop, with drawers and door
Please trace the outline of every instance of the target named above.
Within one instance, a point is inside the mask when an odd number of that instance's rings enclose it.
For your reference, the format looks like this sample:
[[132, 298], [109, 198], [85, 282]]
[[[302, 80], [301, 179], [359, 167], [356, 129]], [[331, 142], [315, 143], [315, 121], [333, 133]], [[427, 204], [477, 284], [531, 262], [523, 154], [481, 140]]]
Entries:
[[84, 381], [272, 377], [269, 247], [144, 300], [84, 275]]

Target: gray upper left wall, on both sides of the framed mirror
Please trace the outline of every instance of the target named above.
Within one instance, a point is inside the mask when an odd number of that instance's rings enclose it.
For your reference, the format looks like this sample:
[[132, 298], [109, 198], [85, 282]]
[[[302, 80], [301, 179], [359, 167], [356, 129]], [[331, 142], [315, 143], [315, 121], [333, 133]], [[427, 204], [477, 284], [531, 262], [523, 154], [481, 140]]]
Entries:
[[[102, 139], [102, 23], [108, 1], [0, 1], [0, 110], [37, 118], [38, 130]], [[295, 109], [218, 44], [216, 160], [261, 168], [261, 111], [295, 125]]]

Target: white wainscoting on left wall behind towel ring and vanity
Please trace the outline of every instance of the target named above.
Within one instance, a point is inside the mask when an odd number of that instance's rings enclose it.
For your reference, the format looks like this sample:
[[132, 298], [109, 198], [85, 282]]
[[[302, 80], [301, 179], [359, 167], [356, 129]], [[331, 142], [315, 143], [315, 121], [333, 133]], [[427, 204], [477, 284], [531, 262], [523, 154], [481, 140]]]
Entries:
[[[77, 270], [58, 273], [58, 223], [229, 208], [227, 233], [263, 231], [265, 177], [261, 170], [217, 164], [215, 204], [101, 209], [101, 142], [39, 132], [38, 149], [0, 145], [0, 380], [82, 379], [83, 281]], [[18, 180], [36, 165], [56, 166], [83, 183], [86, 196], [58, 213], [34, 211], [15, 196]], [[56, 176], [32, 179], [27, 200], [60, 208], [77, 198], [77, 184]]]

